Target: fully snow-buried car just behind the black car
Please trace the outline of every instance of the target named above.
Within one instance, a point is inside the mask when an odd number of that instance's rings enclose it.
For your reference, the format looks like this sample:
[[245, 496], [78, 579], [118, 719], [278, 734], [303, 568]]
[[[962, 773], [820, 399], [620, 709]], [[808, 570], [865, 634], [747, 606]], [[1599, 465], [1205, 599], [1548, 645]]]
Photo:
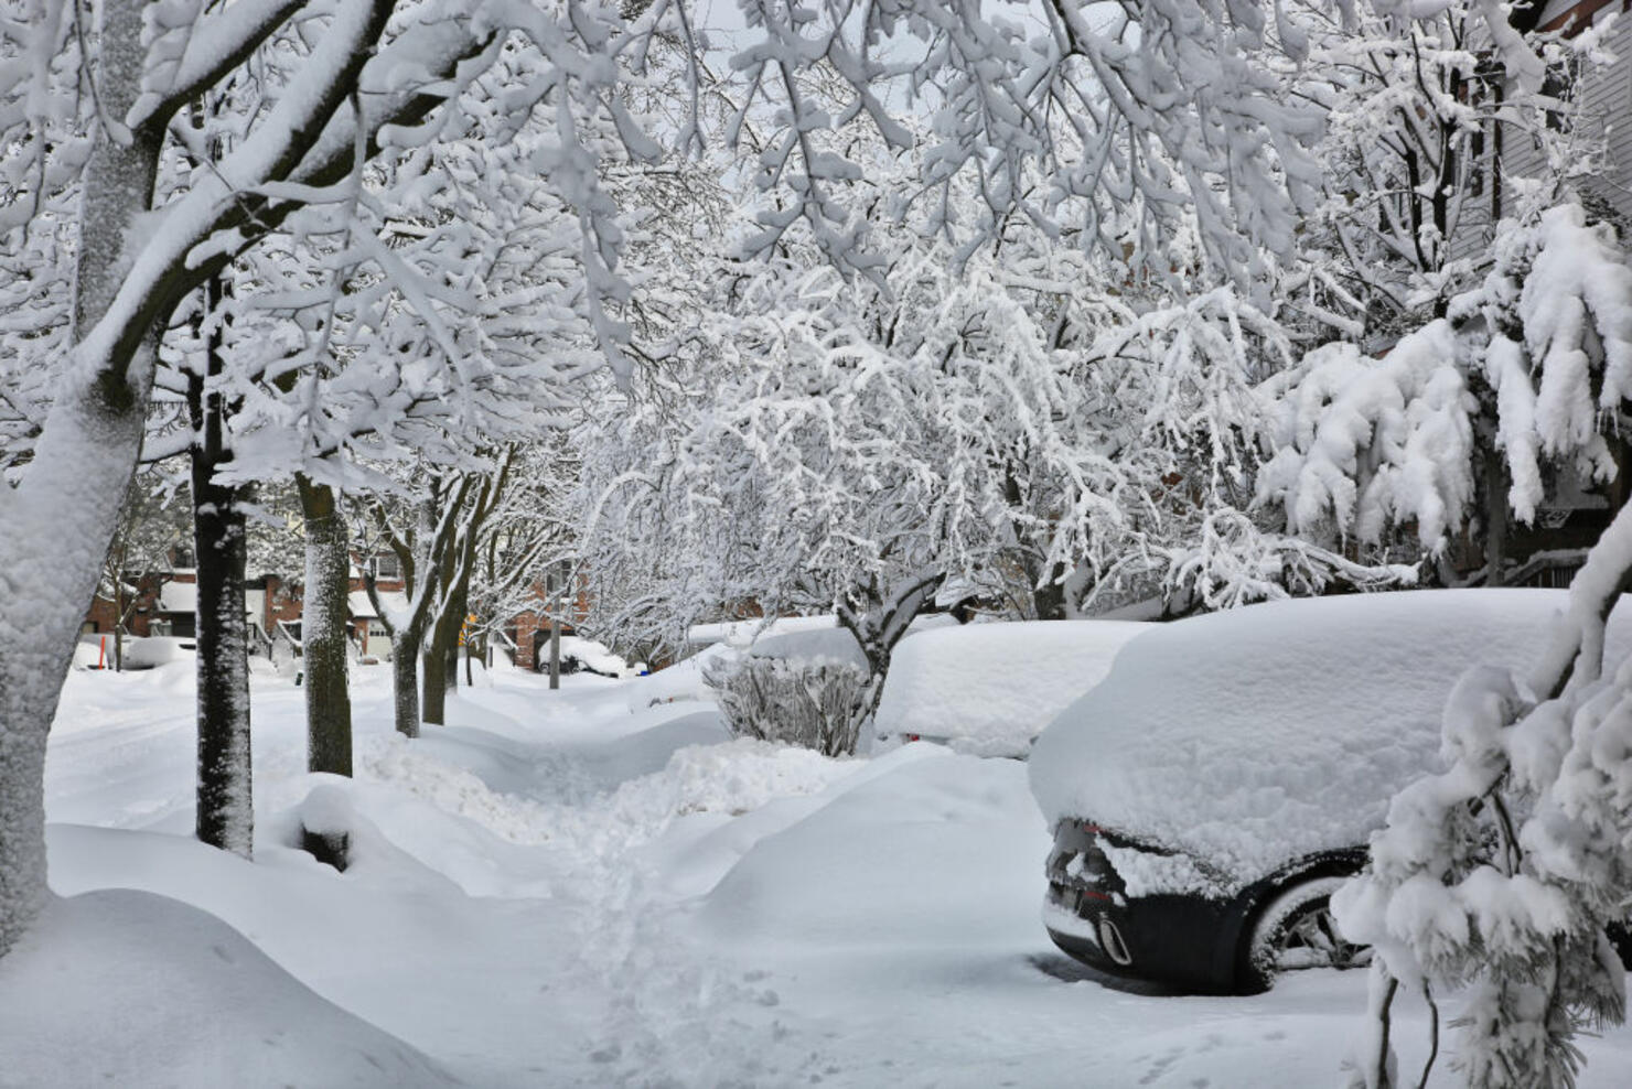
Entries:
[[1074, 699], [1105, 678], [1147, 624], [1058, 619], [937, 628], [891, 655], [880, 735], [950, 738], [984, 756], [1023, 756]]

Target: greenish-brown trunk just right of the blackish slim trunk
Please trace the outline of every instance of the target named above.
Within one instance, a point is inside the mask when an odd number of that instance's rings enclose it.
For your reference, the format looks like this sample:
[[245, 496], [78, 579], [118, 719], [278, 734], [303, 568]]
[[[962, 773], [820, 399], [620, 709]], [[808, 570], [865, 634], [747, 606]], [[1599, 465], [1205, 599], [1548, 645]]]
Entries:
[[300, 646], [307, 691], [307, 769], [351, 774], [351, 693], [346, 688], [346, 602], [351, 540], [335, 489], [295, 478], [305, 518], [307, 572]]

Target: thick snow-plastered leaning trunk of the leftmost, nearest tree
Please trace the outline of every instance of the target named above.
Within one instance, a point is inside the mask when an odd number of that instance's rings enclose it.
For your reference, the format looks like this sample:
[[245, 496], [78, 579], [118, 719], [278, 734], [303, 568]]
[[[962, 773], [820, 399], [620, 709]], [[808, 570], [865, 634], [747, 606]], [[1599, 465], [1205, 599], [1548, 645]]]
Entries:
[[[111, 117], [140, 90], [144, 8], [101, 7], [96, 86]], [[132, 228], [152, 204], [162, 137], [142, 129], [119, 142], [96, 126], [75, 267], [80, 365], [64, 375], [23, 481], [0, 487], [0, 957], [46, 903], [46, 735], [142, 447], [163, 326], [131, 346], [86, 334], [119, 290], [126, 243], [142, 236]]]

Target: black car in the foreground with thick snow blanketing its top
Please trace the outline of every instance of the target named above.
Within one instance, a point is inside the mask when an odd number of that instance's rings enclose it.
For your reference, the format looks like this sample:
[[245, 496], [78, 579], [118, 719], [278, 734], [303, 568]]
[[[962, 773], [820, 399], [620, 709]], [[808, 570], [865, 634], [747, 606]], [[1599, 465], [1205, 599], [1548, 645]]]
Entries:
[[[1389, 799], [1443, 769], [1457, 678], [1532, 665], [1563, 605], [1560, 590], [1415, 590], [1152, 626], [1033, 750], [1054, 944], [1208, 993], [1363, 960], [1327, 898]], [[1629, 644], [1622, 605], [1608, 657]]]

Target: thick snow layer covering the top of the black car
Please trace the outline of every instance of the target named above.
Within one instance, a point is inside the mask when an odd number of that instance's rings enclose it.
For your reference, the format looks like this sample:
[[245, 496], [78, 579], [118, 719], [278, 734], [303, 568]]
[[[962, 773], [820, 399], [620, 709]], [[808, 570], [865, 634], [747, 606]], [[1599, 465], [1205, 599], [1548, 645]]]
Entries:
[[[1441, 769], [1469, 667], [1526, 668], [1562, 590], [1415, 590], [1253, 605], [1152, 628], [1031, 753], [1049, 823], [1087, 817], [1242, 884], [1366, 843], [1405, 783]], [[1611, 618], [1609, 659], [1632, 644]]]

